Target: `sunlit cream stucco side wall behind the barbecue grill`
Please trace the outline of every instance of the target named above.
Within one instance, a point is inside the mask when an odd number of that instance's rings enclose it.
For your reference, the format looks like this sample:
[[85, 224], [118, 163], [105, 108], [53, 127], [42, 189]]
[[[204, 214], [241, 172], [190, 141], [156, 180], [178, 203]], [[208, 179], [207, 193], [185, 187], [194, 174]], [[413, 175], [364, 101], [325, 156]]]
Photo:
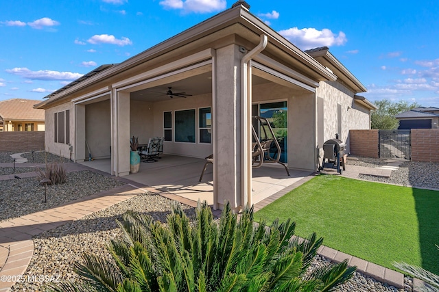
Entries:
[[[346, 142], [346, 153], [349, 152], [349, 130], [370, 129], [368, 109], [354, 102], [354, 92], [337, 81], [320, 82], [316, 96], [324, 100], [324, 133], [323, 142], [335, 138]], [[338, 107], [341, 109], [341, 124], [339, 125]], [[317, 119], [321, 118], [320, 116]], [[341, 132], [339, 133], [341, 127]], [[319, 145], [319, 147], [322, 147]]]

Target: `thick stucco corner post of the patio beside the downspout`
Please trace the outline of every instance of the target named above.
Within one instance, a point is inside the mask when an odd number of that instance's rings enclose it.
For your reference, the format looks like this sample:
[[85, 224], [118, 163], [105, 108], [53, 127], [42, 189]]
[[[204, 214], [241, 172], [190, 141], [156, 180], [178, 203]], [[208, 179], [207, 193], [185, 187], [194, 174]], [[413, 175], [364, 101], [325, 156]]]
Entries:
[[225, 201], [234, 209], [241, 209], [243, 177], [241, 174], [241, 58], [239, 47], [230, 44], [217, 49], [213, 76], [214, 191], [219, 209]]

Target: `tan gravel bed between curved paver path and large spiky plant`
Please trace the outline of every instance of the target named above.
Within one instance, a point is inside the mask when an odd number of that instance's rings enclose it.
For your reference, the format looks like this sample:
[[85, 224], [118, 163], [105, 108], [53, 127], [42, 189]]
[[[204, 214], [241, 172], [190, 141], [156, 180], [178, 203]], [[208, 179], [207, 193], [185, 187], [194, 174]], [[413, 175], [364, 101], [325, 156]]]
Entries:
[[[121, 236], [115, 220], [121, 220], [123, 213], [128, 210], [143, 212], [165, 222], [171, 202], [162, 196], [145, 193], [34, 237], [34, 256], [25, 276], [48, 275], [59, 276], [60, 280], [76, 280], [78, 276], [73, 267], [76, 262], [82, 262], [84, 252], [110, 258], [106, 243], [110, 238]], [[195, 214], [192, 207], [182, 207], [189, 217]], [[19, 282], [12, 291], [44, 291], [43, 284]]]

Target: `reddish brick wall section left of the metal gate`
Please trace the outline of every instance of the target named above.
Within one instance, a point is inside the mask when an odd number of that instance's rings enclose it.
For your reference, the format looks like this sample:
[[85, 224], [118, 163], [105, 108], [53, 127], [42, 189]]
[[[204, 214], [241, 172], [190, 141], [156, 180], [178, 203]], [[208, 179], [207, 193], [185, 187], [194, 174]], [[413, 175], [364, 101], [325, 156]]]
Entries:
[[349, 131], [351, 155], [378, 158], [378, 130]]

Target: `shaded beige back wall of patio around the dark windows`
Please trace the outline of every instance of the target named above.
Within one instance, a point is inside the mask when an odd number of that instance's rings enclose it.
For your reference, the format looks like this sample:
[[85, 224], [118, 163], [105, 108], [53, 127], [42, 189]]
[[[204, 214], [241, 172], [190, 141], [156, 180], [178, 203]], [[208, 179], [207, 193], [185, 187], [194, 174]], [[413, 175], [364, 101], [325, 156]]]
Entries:
[[[195, 109], [195, 143], [185, 142], [170, 142], [165, 141], [163, 143], [163, 153], [172, 155], [183, 155], [189, 157], [204, 158], [212, 154], [212, 144], [198, 143], [199, 130], [198, 130], [198, 109], [201, 107], [212, 107], [211, 94], [202, 94], [199, 96], [191, 96], [190, 98], [169, 98], [164, 96], [164, 101], [154, 103], [151, 107], [154, 116], [154, 130], [150, 133], [150, 136], [146, 136], [147, 139], [154, 136], [163, 136], [163, 112], [173, 112], [173, 124], [174, 124], [174, 111], [183, 109]], [[212, 117], [215, 119], [215, 117]], [[173, 129], [174, 135], [174, 129]], [[227, 137], [225, 137], [227, 139]], [[174, 140], [174, 138], [173, 138]], [[147, 142], [147, 140], [145, 140]]]

